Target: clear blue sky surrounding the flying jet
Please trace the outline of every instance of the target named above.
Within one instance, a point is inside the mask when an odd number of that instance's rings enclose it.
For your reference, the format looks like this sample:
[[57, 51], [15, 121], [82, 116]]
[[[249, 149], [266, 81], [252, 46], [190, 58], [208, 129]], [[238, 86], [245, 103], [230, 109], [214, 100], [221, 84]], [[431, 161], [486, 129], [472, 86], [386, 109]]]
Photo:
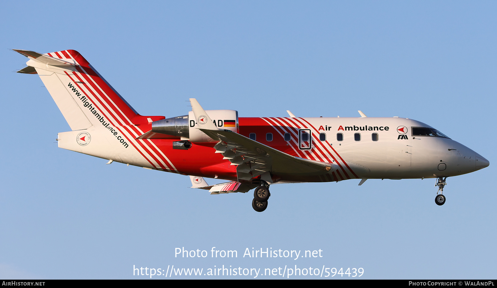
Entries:
[[[133, 265], [204, 273], [297, 265], [361, 267], [364, 279], [495, 279], [496, 8], [1, 2], [0, 278], [145, 279]], [[12, 73], [27, 60], [12, 48], [79, 51], [142, 115], [187, 114], [190, 97], [241, 117], [362, 110], [425, 122], [491, 165], [449, 178], [443, 206], [434, 203], [434, 179], [348, 180], [271, 186], [267, 210], [257, 213], [252, 192], [209, 195], [189, 189], [186, 176], [57, 148], [69, 125], [39, 77]], [[176, 247], [239, 257], [175, 258]], [[252, 247], [321, 249], [324, 257], [243, 258]]]

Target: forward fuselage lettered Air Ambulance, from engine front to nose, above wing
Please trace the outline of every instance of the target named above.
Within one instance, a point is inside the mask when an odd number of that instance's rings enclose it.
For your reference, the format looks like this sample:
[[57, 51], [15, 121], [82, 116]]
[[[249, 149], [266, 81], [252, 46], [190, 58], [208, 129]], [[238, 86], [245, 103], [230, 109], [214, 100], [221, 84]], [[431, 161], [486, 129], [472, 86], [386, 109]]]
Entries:
[[[486, 167], [484, 160], [476, 161], [475, 151], [452, 139], [413, 135], [412, 127], [432, 127], [408, 118], [241, 117], [239, 122], [242, 135], [255, 133], [262, 144], [297, 157], [344, 164], [337, 180], [449, 177]], [[407, 130], [399, 131], [401, 126]], [[299, 147], [301, 129], [312, 132], [310, 148]], [[266, 140], [266, 133], [273, 133], [272, 141]], [[284, 140], [285, 133], [291, 134], [290, 141]], [[354, 169], [349, 163], [359, 167]]]

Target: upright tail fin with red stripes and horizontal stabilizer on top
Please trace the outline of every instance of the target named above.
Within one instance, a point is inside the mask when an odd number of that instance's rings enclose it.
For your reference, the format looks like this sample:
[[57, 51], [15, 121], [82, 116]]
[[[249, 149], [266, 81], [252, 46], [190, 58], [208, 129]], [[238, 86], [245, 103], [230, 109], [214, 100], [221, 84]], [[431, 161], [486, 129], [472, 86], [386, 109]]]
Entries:
[[125, 126], [152, 120], [142, 119], [145, 116], [140, 116], [77, 51], [14, 51], [30, 59], [28, 67], [18, 72], [40, 76], [72, 130], [109, 121]]

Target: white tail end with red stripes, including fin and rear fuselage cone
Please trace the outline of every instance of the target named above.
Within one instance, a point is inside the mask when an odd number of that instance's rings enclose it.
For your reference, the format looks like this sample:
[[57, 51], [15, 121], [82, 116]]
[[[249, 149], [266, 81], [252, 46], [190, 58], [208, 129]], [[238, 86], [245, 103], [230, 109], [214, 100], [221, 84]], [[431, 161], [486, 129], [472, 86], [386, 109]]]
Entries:
[[59, 147], [164, 171], [172, 163], [150, 139], [137, 139], [164, 116], [142, 116], [75, 50], [40, 54], [14, 51], [29, 58], [17, 71], [38, 74], [73, 131], [58, 135]]

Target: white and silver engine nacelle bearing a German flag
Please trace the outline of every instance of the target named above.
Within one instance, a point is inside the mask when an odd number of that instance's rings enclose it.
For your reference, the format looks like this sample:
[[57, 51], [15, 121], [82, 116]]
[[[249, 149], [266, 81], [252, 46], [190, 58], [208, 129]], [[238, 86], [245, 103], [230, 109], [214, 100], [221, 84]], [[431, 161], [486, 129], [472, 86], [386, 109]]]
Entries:
[[[238, 133], [238, 111], [236, 110], [206, 110], [205, 111], [220, 129], [228, 129]], [[152, 122], [152, 132], [166, 134], [181, 139], [189, 139], [195, 143], [217, 142], [204, 132], [197, 129], [193, 111], [188, 115], [177, 116]]]

